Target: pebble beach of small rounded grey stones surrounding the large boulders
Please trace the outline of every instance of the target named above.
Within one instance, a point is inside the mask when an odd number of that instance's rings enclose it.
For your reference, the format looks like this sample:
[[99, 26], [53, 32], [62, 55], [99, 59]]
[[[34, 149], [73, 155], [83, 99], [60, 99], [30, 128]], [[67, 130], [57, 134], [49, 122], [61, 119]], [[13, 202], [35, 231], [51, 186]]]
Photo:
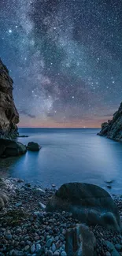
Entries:
[[[46, 203], [56, 188], [42, 190], [24, 180], [1, 179], [9, 201], [0, 211], [0, 256], [66, 256], [66, 232], [80, 221], [72, 213], [48, 213]], [[113, 195], [122, 219], [122, 197]], [[122, 232], [90, 227], [96, 238], [95, 255], [122, 255]], [[73, 255], [72, 255], [73, 256]]]

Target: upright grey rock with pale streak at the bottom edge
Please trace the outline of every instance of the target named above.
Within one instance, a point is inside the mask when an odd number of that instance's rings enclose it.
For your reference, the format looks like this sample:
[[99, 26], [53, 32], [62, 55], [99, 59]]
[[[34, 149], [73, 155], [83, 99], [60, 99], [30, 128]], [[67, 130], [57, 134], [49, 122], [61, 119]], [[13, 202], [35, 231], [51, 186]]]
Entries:
[[94, 256], [96, 239], [84, 224], [76, 224], [66, 232], [66, 252], [68, 256]]

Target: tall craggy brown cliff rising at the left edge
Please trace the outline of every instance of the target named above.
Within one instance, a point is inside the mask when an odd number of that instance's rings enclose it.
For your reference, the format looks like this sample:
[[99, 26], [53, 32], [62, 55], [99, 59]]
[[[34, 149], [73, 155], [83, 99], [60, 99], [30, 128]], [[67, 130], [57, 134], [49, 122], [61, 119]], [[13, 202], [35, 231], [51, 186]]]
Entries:
[[13, 102], [13, 80], [0, 59], [0, 137], [17, 135], [19, 114]]

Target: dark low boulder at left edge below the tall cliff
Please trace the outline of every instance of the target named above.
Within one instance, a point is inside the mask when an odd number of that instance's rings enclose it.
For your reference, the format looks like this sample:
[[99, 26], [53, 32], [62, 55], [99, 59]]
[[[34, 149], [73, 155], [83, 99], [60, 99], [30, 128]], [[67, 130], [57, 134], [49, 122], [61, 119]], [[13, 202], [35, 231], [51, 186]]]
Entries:
[[26, 153], [22, 143], [10, 139], [0, 139], [0, 157], [15, 157]]

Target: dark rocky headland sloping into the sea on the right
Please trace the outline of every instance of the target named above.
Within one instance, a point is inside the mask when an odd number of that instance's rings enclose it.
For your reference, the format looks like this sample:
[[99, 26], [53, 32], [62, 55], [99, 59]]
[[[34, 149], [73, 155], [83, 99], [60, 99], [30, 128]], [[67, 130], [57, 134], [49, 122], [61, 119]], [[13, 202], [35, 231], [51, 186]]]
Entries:
[[122, 142], [122, 102], [120, 108], [113, 114], [113, 120], [103, 123], [98, 135]]

